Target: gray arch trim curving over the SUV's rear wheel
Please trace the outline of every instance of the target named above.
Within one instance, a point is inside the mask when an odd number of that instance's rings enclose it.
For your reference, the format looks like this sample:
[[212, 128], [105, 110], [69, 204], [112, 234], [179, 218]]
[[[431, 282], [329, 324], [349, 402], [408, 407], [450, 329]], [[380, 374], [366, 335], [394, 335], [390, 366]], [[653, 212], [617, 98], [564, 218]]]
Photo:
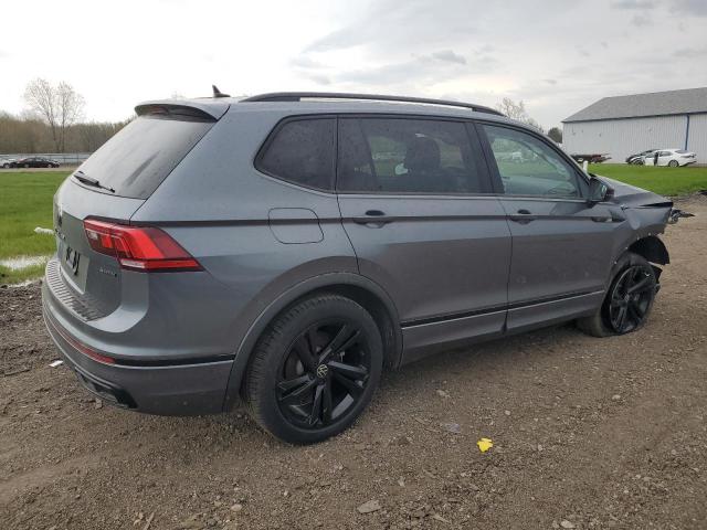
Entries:
[[251, 354], [267, 326], [284, 310], [305, 298], [321, 293], [346, 296], [363, 306], [373, 317], [383, 340], [384, 365], [400, 365], [402, 330], [398, 310], [392, 299], [374, 282], [352, 273], [331, 273], [306, 279], [273, 300], [253, 321], [241, 340], [231, 368], [223, 410], [231, 410], [241, 399], [245, 372]]

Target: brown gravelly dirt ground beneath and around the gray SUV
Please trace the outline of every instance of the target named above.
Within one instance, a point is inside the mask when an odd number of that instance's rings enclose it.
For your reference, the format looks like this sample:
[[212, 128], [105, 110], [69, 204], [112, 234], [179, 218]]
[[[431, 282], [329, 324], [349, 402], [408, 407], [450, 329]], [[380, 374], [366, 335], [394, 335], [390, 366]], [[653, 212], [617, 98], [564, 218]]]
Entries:
[[49, 367], [39, 288], [0, 289], [0, 529], [705, 529], [707, 197], [680, 206], [643, 330], [443, 353], [309, 447], [102, 406]]

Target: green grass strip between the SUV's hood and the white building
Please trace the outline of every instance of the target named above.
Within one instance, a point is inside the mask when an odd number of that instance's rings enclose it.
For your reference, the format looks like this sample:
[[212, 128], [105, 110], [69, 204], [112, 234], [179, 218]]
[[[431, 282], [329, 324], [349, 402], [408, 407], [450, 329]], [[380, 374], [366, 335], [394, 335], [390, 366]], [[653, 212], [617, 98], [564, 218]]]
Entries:
[[707, 168], [590, 163], [589, 172], [637, 186], [661, 195], [675, 197], [707, 190]]

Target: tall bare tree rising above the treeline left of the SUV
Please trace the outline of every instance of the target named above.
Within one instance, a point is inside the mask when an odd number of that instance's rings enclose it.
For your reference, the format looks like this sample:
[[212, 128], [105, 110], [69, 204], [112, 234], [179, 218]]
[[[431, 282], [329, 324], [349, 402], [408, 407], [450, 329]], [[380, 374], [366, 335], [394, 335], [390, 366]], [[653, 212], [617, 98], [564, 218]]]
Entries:
[[27, 85], [24, 100], [49, 125], [56, 152], [64, 152], [66, 129], [83, 116], [84, 97], [63, 81], [52, 85], [36, 78]]

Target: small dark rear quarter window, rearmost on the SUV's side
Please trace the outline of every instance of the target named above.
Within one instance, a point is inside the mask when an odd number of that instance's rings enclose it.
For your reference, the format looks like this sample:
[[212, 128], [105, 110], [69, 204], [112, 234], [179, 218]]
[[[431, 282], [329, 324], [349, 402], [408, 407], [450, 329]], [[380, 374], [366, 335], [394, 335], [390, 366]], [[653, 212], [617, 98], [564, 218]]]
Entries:
[[285, 123], [265, 146], [257, 169], [297, 184], [330, 190], [335, 126], [334, 118]]

